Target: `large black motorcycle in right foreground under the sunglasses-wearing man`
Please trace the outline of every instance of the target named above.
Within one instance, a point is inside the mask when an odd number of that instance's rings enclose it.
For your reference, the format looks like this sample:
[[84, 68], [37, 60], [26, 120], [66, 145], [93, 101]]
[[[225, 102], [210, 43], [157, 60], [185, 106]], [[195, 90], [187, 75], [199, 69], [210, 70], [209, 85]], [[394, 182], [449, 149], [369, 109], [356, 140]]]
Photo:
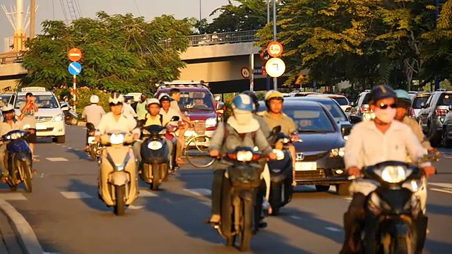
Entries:
[[[427, 155], [422, 162], [431, 161], [434, 156]], [[420, 200], [415, 195], [422, 186], [420, 168], [388, 161], [364, 167], [362, 176], [379, 183], [367, 196], [365, 205], [364, 253], [421, 253], [423, 247], [419, 244], [424, 246], [428, 219], [422, 214]], [[404, 188], [406, 183], [412, 190]], [[420, 219], [419, 224], [415, 223], [416, 219]]]

